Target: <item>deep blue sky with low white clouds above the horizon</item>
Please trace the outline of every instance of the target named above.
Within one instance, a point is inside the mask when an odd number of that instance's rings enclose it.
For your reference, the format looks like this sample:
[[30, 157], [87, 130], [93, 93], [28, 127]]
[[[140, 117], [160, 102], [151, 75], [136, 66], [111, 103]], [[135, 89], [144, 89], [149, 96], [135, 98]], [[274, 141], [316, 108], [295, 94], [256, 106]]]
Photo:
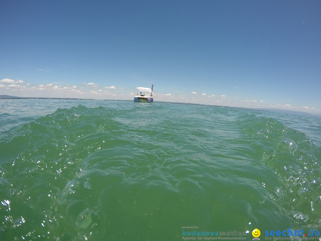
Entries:
[[0, 3], [0, 94], [321, 113], [321, 1]]

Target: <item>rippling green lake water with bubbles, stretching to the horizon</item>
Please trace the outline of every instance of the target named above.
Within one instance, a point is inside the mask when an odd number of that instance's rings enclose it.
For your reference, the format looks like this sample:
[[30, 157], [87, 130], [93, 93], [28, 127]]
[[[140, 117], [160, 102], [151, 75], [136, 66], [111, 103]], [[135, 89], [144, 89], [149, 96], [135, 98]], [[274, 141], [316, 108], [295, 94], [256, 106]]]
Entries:
[[0, 240], [321, 230], [319, 119], [307, 120], [307, 136], [304, 123], [284, 124], [300, 117], [246, 109], [14, 103], [22, 108], [0, 113]]

